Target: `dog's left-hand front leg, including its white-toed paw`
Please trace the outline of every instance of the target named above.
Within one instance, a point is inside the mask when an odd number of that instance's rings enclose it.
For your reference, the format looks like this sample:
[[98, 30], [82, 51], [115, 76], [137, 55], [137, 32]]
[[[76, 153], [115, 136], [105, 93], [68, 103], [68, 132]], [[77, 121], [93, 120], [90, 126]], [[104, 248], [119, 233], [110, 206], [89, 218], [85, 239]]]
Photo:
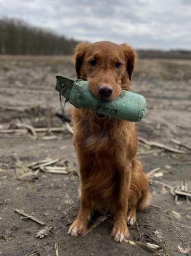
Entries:
[[[82, 153], [80, 153], [82, 154]], [[77, 215], [77, 218], [75, 221], [73, 221], [72, 225], [70, 226], [68, 230], [68, 234], [71, 234], [71, 236], [77, 236], [78, 234], [83, 234], [86, 232], [89, 216], [91, 213], [91, 202], [89, 200], [89, 196], [86, 193], [86, 190], [84, 189], [84, 182], [87, 178], [90, 163], [88, 158], [84, 158], [84, 156], [79, 156], [79, 165], [80, 165], [80, 192], [81, 192], [81, 200], [80, 200], [80, 209], [79, 213]], [[84, 161], [86, 159], [86, 161]]]

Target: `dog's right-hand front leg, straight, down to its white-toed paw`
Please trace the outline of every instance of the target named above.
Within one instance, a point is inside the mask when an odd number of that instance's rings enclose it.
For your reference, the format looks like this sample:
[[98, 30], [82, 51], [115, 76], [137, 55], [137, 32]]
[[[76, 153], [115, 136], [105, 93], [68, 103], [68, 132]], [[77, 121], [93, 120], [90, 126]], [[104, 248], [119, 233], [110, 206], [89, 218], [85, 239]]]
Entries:
[[129, 236], [126, 223], [128, 211], [128, 193], [130, 190], [131, 164], [118, 168], [118, 203], [114, 214], [112, 236], [117, 242], [122, 242]]

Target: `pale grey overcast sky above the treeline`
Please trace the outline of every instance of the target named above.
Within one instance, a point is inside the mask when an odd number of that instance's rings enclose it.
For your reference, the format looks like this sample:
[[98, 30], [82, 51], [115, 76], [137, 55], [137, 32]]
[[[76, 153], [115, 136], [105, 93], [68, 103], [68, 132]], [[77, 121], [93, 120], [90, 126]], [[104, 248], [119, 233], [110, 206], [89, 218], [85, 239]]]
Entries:
[[191, 0], [0, 0], [0, 17], [89, 42], [191, 50]]

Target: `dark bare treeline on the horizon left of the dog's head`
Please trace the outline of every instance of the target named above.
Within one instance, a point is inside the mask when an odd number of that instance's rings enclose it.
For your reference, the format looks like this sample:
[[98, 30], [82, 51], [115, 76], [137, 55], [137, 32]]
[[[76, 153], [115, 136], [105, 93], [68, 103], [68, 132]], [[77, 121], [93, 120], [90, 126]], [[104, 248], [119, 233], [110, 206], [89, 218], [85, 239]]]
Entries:
[[77, 41], [34, 28], [21, 20], [0, 19], [0, 54], [72, 54]]

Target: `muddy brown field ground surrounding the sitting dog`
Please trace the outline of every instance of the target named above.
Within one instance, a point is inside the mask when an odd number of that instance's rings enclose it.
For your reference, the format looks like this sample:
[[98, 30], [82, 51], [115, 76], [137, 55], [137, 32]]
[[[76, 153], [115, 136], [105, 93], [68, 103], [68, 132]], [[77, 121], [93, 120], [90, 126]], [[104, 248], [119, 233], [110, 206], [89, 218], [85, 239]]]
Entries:
[[[140, 138], [139, 157], [145, 172], [158, 171], [150, 174], [152, 205], [139, 212], [129, 239], [160, 245], [155, 252], [114, 242], [110, 217], [85, 237], [67, 234], [79, 207], [79, 179], [72, 134], [64, 128], [50, 132], [50, 127], [62, 127], [55, 116], [60, 112], [59, 95], [54, 90], [56, 74], [75, 78], [70, 57], [0, 57], [0, 255], [25, 256], [38, 251], [35, 256], [52, 256], [56, 255], [55, 243], [59, 256], [191, 255], [191, 200], [172, 195], [171, 189], [158, 183], [180, 187], [174, 189], [179, 193], [191, 190], [191, 184], [187, 186], [191, 150], [171, 141], [191, 145], [191, 61], [139, 60], [132, 82], [134, 92], [148, 101], [148, 112], [137, 124], [139, 136], [183, 151], [149, 146]], [[70, 113], [69, 107], [67, 111]], [[33, 127], [48, 127], [49, 131], [35, 132]], [[13, 132], [3, 133], [4, 129]], [[52, 169], [51, 164], [29, 166], [57, 158]], [[61, 166], [65, 174], [49, 173], [55, 166]], [[45, 225], [20, 218], [15, 209]], [[48, 236], [36, 237], [45, 227], [52, 227]]]

